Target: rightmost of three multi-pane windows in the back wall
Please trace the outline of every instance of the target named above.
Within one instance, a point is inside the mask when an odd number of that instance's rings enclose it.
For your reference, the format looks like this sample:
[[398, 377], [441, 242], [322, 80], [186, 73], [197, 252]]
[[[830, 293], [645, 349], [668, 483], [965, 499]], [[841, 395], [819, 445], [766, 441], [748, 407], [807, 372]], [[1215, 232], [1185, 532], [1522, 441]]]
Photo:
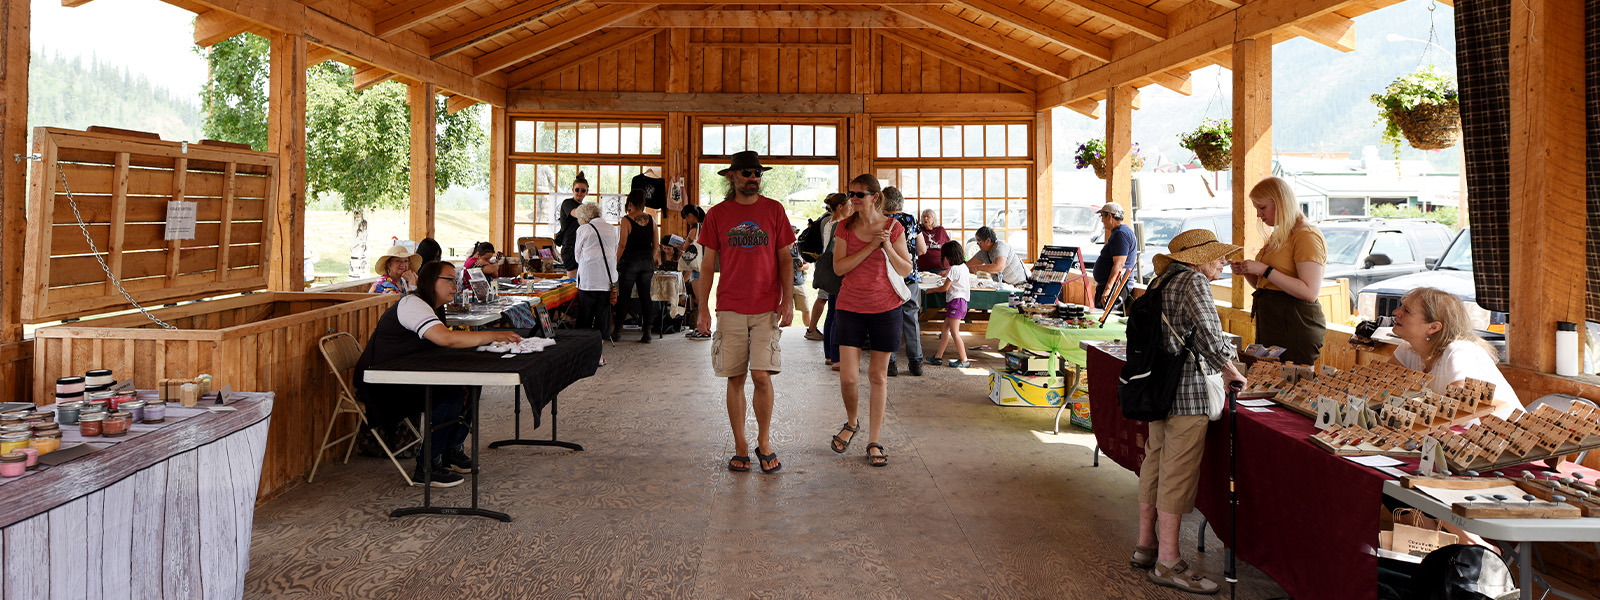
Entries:
[[906, 213], [934, 210], [954, 240], [990, 227], [1029, 253], [1034, 165], [1027, 122], [880, 123], [875, 133], [878, 181], [901, 190]]

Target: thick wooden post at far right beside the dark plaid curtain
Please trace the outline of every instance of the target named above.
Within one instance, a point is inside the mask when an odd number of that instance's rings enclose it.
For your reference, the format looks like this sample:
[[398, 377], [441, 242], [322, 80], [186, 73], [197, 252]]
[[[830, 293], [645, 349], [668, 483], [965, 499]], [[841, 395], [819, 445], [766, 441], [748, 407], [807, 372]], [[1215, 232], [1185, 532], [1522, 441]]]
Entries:
[[[1555, 322], [1584, 322], [1584, 10], [1510, 11], [1512, 366], [1555, 371]], [[1576, 158], [1574, 158], [1576, 157]], [[1579, 330], [1582, 331], [1582, 330]]]

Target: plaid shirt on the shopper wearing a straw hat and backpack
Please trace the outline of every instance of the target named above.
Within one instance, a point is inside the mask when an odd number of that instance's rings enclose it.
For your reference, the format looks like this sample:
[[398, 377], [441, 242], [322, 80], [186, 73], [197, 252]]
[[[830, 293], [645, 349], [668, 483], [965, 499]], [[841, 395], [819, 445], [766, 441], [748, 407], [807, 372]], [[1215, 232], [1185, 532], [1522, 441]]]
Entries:
[[[1162, 315], [1171, 325], [1166, 330], [1166, 350], [1181, 350], [1181, 339], [1194, 336], [1189, 349], [1200, 358], [1184, 363], [1184, 378], [1178, 382], [1170, 414], [1205, 414], [1205, 374], [1221, 373], [1222, 365], [1234, 360], [1234, 344], [1222, 336], [1222, 320], [1216, 315], [1206, 277], [1182, 262], [1173, 262], [1166, 270], [1162, 277], [1166, 280], [1162, 283]], [[1200, 362], [1205, 362], [1205, 370]]]

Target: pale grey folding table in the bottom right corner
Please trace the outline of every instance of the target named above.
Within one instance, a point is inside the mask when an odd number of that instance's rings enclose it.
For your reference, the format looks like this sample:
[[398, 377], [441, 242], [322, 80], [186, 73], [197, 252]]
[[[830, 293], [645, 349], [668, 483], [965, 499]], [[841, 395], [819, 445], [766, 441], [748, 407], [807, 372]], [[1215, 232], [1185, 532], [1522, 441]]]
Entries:
[[1400, 482], [1384, 482], [1384, 494], [1406, 502], [1429, 517], [1459, 526], [1494, 542], [1517, 563], [1517, 587], [1523, 600], [1533, 600], [1534, 584], [1558, 597], [1581, 600], [1576, 595], [1550, 587], [1534, 566], [1533, 542], [1595, 542], [1600, 544], [1600, 518], [1467, 518], [1450, 510], [1445, 502], [1418, 490], [1408, 490]]

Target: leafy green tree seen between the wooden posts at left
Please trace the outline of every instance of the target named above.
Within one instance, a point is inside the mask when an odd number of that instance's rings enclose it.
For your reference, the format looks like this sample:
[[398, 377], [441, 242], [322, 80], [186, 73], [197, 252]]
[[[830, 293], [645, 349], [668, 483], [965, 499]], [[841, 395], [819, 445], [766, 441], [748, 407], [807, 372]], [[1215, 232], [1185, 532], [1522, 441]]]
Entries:
[[[206, 56], [211, 77], [202, 91], [206, 136], [267, 146], [269, 42], [240, 34]], [[434, 187], [483, 186], [488, 165], [480, 106], [448, 114], [440, 98], [430, 107], [435, 131]], [[394, 82], [355, 91], [355, 69], [339, 62], [306, 74], [306, 197], [338, 197], [350, 213], [350, 277], [366, 272], [366, 211], [410, 206], [411, 107], [406, 86]]]

